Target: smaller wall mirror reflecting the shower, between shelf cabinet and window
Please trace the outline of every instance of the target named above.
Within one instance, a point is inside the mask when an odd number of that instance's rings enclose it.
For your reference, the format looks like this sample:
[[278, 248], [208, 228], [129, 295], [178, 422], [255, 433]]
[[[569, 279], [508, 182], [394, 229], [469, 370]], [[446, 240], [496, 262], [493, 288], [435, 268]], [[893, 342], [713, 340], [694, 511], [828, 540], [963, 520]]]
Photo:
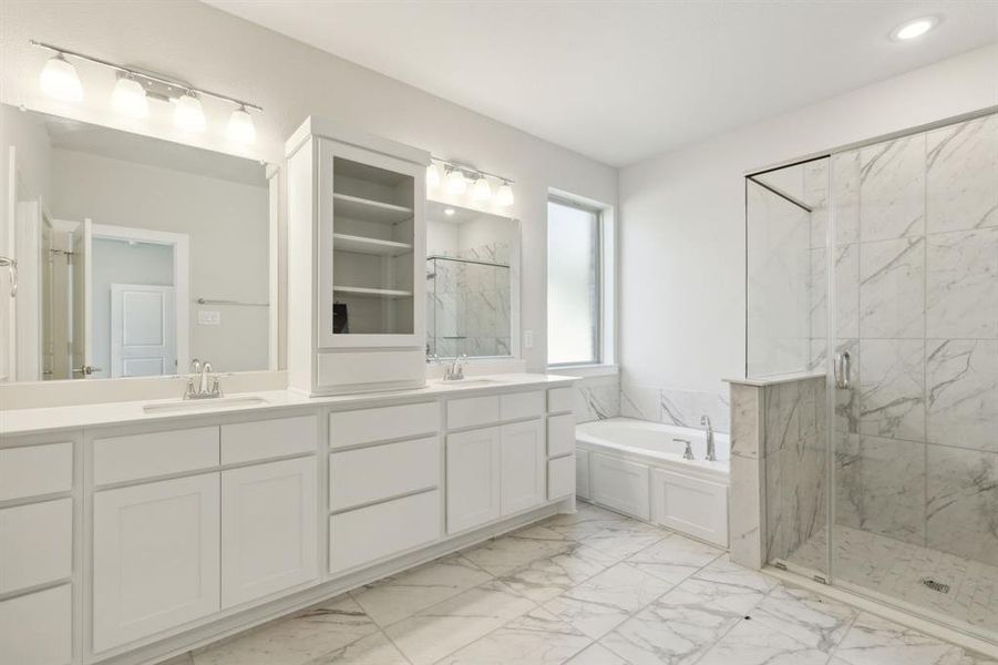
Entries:
[[508, 357], [519, 236], [515, 219], [426, 203], [426, 352]]

